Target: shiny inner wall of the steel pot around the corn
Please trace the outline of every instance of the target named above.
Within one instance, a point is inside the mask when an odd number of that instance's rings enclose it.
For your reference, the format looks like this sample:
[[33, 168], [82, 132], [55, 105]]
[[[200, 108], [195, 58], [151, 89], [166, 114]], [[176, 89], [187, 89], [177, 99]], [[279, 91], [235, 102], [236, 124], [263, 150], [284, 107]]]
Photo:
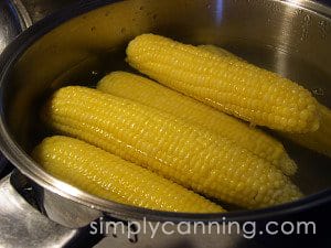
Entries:
[[[331, 20], [285, 2], [128, 0], [45, 31], [15, 62], [3, 86], [7, 125], [28, 153], [50, 134], [40, 121], [45, 98], [63, 85], [94, 86], [110, 71], [130, 69], [125, 47], [147, 32], [221, 45], [300, 83], [331, 107]], [[295, 181], [305, 193], [331, 185], [330, 159], [288, 141], [285, 145], [299, 164]]]

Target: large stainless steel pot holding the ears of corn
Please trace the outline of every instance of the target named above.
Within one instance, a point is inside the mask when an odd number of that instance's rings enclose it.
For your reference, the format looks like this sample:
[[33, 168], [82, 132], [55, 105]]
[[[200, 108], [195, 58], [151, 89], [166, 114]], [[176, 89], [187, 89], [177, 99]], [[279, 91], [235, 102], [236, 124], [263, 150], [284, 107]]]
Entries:
[[[39, 108], [45, 97], [66, 84], [93, 85], [107, 72], [127, 68], [125, 46], [136, 35], [147, 32], [193, 44], [222, 45], [249, 62], [302, 83], [331, 107], [330, 8], [305, 0], [77, 3], [22, 33], [4, 51], [0, 62], [1, 150], [33, 185], [44, 215], [68, 228], [86, 226], [100, 216], [174, 223], [223, 222], [223, 217], [265, 222], [295, 216], [330, 202], [330, 190], [327, 190], [331, 185], [331, 160], [287, 141], [287, 149], [299, 164], [293, 180], [308, 196], [266, 209], [222, 215], [164, 213], [108, 202], [56, 180], [34, 163], [29, 153], [46, 134], [39, 120]], [[2, 188], [3, 184], [7, 188], [12, 185], [13, 177], [3, 181]], [[241, 236], [226, 235], [194, 240], [201, 247], [215, 244], [236, 247], [243, 242]]]

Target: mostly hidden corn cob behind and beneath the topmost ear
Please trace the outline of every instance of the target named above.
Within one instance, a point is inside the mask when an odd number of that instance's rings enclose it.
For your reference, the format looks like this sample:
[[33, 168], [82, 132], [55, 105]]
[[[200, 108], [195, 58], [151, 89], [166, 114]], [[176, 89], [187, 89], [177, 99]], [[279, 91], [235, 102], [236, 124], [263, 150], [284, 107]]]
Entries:
[[[220, 56], [228, 56], [235, 60], [244, 61], [242, 57], [238, 57], [233, 53], [215, 45], [200, 45], [199, 47], [211, 53], [218, 54]], [[281, 132], [281, 134], [302, 147], [309, 148], [331, 158], [331, 110], [321, 104], [318, 104], [318, 110], [320, 114], [320, 127], [318, 130], [309, 133]]]

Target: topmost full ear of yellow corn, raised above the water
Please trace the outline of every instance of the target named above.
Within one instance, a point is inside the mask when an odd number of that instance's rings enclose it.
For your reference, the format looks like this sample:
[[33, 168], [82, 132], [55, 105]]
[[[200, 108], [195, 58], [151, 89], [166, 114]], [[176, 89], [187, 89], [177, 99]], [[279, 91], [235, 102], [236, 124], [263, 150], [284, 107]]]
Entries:
[[132, 67], [159, 83], [255, 125], [288, 132], [319, 127], [308, 90], [244, 61], [153, 34], [137, 36], [127, 55]]

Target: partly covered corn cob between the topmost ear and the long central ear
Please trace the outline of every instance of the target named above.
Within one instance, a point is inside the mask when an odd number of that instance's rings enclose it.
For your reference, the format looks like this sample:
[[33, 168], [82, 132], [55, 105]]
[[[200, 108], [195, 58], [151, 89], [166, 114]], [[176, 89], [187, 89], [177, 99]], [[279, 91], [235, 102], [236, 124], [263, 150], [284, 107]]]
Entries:
[[114, 72], [98, 83], [97, 89], [200, 125], [268, 160], [287, 175], [293, 174], [297, 170], [296, 163], [288, 157], [282, 144], [261, 130], [250, 128], [236, 118], [148, 78], [126, 72]]

